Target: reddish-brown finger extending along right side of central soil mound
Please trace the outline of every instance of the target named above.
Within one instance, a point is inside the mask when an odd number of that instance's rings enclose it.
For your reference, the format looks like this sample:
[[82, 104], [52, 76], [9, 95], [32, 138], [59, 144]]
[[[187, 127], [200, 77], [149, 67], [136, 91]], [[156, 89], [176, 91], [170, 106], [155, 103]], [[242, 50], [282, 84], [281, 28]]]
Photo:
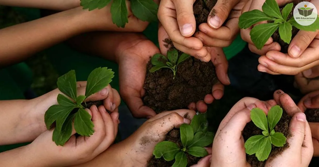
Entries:
[[209, 52], [211, 54], [211, 61], [216, 68], [216, 75], [219, 81], [225, 85], [229, 85], [230, 80], [227, 74], [228, 61], [223, 49], [220, 47], [207, 47], [207, 49], [209, 49]]

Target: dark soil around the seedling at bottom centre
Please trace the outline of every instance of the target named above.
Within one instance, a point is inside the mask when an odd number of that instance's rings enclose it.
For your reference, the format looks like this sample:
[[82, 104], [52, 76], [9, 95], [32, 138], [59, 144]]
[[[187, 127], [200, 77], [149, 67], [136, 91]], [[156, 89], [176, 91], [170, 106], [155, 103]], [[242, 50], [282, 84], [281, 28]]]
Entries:
[[[182, 141], [181, 141], [181, 135], [179, 129], [172, 129], [165, 137], [164, 141], [170, 141], [176, 143], [181, 149], [183, 147]], [[185, 152], [186, 153], [186, 152]], [[186, 153], [187, 157], [187, 166], [191, 166], [194, 164], [197, 164], [197, 162], [201, 159], [201, 157], [195, 157], [188, 153]], [[152, 156], [150, 160], [147, 162], [147, 167], [164, 167], [164, 166], [172, 166], [174, 164], [175, 160], [173, 161], [165, 161], [164, 158], [155, 158], [155, 156]]]

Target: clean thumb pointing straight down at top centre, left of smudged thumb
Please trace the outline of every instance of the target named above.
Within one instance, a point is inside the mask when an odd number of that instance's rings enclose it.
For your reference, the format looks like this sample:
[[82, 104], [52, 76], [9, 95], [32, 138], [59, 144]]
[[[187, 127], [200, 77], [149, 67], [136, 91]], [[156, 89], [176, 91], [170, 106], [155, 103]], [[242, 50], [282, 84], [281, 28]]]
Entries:
[[184, 37], [190, 37], [195, 33], [196, 21], [193, 11], [194, 0], [174, 0], [177, 23]]

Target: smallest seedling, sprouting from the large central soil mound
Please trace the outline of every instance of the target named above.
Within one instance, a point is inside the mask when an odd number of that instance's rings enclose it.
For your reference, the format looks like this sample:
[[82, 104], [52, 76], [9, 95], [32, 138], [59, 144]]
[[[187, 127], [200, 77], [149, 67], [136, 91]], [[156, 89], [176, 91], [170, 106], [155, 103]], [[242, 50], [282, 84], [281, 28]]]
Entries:
[[173, 79], [175, 79], [178, 64], [185, 61], [189, 57], [190, 55], [183, 53], [178, 58], [178, 52], [176, 49], [167, 52], [168, 59], [161, 54], [155, 54], [151, 59], [151, 62], [154, 65], [154, 67], [150, 69], [150, 72], [155, 72], [161, 68], [169, 68], [173, 71]]

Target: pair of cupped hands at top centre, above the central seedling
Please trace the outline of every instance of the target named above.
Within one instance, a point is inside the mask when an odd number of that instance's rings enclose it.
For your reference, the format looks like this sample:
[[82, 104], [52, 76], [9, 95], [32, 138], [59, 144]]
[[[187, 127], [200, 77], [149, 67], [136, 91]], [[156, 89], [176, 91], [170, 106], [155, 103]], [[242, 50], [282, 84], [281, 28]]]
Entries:
[[[169, 37], [178, 50], [204, 62], [208, 62], [211, 60], [211, 55], [203, 47], [204, 45], [215, 47], [228, 46], [238, 33], [239, 29], [237, 25], [240, 12], [236, 12], [236, 10], [240, 7], [236, 6], [236, 4], [239, 1], [218, 0], [217, 4], [210, 11], [211, 14], [207, 20], [208, 24], [203, 23], [200, 25], [202, 33], [197, 34], [197, 37], [201, 38], [198, 39], [192, 37], [196, 31], [196, 20], [193, 11], [195, 0], [161, 0], [158, 11], [158, 18], [162, 24], [162, 26], [160, 25], [160, 29], [163, 29], [162, 33], [159, 32], [161, 53], [166, 54], [167, 48], [164, 47], [165, 43], [163, 40]], [[232, 12], [233, 8], [234, 12]], [[222, 26], [229, 15], [231, 19], [226, 23], [226, 26]]]

